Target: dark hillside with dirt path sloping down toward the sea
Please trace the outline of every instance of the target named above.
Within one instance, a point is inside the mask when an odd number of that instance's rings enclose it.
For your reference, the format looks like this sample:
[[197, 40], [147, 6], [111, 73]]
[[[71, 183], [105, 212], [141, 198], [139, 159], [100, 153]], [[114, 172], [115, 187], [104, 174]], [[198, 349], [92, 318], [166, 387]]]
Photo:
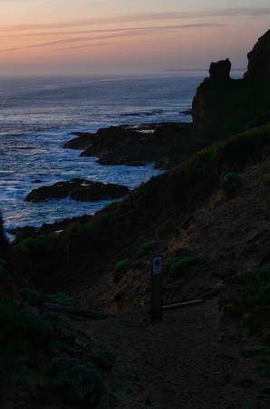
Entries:
[[[88, 407], [46, 392], [43, 366], [55, 356], [88, 361], [92, 351], [109, 348], [116, 361], [111, 370], [97, 368], [108, 392], [96, 407], [268, 408], [269, 142], [270, 125], [236, 135], [87, 224], [14, 245], [19, 287], [28, 277], [40, 292], [65, 291], [84, 309], [116, 316], [74, 322], [36, 306], [56, 324], [53, 339], [35, 344], [28, 358], [19, 355], [28, 377], [23, 390], [14, 391], [19, 376], [5, 384], [6, 402]], [[151, 254], [163, 255], [165, 304], [209, 288], [218, 293], [150, 324]]]

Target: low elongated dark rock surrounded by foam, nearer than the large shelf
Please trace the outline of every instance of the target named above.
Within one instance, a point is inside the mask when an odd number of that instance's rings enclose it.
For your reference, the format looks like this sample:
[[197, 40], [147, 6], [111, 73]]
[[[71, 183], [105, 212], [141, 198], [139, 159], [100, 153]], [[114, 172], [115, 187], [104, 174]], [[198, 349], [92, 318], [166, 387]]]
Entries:
[[130, 189], [127, 186], [102, 184], [101, 182], [74, 178], [68, 182], [57, 182], [52, 186], [33, 189], [24, 201], [37, 203], [50, 199], [64, 199], [69, 196], [80, 202], [95, 202], [97, 200], [118, 199], [129, 192]]

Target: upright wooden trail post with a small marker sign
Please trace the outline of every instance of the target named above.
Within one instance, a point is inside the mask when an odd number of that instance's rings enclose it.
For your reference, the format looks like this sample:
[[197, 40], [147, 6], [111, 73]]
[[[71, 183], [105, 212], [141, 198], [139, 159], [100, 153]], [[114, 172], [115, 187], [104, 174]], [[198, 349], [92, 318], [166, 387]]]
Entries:
[[150, 322], [162, 320], [162, 256], [151, 257], [151, 316]]

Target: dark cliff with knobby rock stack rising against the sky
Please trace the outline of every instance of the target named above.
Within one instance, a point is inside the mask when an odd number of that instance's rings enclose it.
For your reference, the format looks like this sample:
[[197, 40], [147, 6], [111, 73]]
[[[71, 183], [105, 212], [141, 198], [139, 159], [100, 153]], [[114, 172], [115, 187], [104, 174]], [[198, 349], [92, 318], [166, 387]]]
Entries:
[[243, 79], [230, 78], [230, 61], [211, 63], [198, 86], [192, 115], [195, 136], [218, 142], [236, 134], [270, 107], [270, 30], [248, 53]]

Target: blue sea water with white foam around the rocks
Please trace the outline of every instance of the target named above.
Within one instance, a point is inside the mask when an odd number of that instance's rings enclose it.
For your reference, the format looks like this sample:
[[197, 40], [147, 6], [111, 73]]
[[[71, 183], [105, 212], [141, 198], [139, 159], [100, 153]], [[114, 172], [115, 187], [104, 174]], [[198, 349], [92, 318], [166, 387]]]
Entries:
[[[34, 188], [82, 177], [135, 188], [159, 171], [153, 165], [104, 166], [63, 149], [68, 135], [121, 124], [190, 122], [207, 72], [148, 76], [0, 77], [0, 211], [5, 229], [40, 226], [94, 214], [108, 202], [24, 202]], [[128, 115], [126, 115], [128, 114]], [[129, 115], [140, 114], [140, 115]], [[34, 181], [40, 179], [41, 184]]]

